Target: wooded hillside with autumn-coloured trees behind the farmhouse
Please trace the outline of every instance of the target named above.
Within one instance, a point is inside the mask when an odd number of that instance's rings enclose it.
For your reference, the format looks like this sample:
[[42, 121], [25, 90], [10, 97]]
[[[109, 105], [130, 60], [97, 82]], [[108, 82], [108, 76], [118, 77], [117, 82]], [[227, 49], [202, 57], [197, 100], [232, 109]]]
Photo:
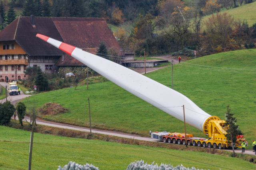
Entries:
[[[256, 21], [225, 11], [254, 0], [0, 0], [0, 30], [21, 16], [105, 18], [121, 47], [136, 55], [192, 57], [255, 48]], [[256, 6], [255, 6], [256, 7]], [[251, 8], [246, 6], [245, 11]], [[255, 9], [254, 9], [255, 11]], [[253, 9], [251, 11], [254, 14]], [[250, 14], [249, 14], [250, 15]], [[207, 16], [207, 18], [205, 17]], [[110, 27], [111, 28], [111, 27]], [[183, 50], [183, 52], [182, 52]], [[107, 52], [106, 52], [107, 53]], [[107, 55], [107, 54], [106, 54]], [[114, 52], [109, 55], [117, 55]]]

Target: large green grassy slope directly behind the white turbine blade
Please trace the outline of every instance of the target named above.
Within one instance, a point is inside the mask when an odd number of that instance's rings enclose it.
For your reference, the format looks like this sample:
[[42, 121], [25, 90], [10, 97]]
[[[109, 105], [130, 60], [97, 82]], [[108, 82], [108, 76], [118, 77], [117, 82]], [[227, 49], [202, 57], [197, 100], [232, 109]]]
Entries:
[[[238, 117], [239, 128], [249, 140], [249, 146], [251, 146], [251, 140], [256, 139], [254, 126], [256, 110], [256, 74], [254, 73], [256, 71], [203, 67], [192, 64], [256, 70], [255, 54], [256, 49], [230, 51], [174, 65], [174, 90], [190, 98], [210, 115], [216, 115], [221, 119], [224, 119], [226, 106], [230, 104], [230, 108]], [[150, 72], [146, 76], [168, 87], [172, 86], [171, 67]], [[24, 102], [26, 105], [34, 102], [36, 107], [42, 107], [47, 102], [56, 102], [70, 111], [45, 117], [57, 122], [88, 127], [87, 98], [90, 97], [91, 119], [94, 128], [144, 136], [149, 135], [150, 130], [184, 132], [182, 121], [152, 107], [112, 82], [92, 84], [88, 91], [86, 86], [79, 86], [77, 90], [72, 88], [67, 95], [68, 90], [63, 92], [62, 89], [31, 96]], [[205, 136], [202, 131], [190, 125], [187, 126], [187, 133], [198, 137]]]

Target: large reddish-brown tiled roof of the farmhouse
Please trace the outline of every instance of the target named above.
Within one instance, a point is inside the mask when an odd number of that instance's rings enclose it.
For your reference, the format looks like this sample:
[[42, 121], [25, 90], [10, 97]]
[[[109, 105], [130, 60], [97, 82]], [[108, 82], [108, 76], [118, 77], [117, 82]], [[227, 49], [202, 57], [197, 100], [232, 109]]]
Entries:
[[[89, 49], [96, 54], [100, 41], [107, 48], [114, 47], [118, 52], [120, 46], [109, 29], [104, 18], [51, 18], [35, 17], [35, 27], [30, 17], [19, 17], [0, 32], [0, 41], [16, 40], [30, 56], [61, 56], [62, 51], [36, 38], [36, 34], [46, 35], [81, 49]], [[62, 57], [61, 57], [62, 58]], [[56, 65], [78, 64], [79, 61], [65, 55], [65, 62]]]

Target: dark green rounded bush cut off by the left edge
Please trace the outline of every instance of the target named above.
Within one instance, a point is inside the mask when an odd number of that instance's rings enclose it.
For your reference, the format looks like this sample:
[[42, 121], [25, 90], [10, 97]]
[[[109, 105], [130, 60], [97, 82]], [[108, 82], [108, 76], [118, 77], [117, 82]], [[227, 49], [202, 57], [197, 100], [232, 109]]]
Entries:
[[10, 123], [15, 110], [15, 107], [9, 101], [0, 104], [0, 125]]

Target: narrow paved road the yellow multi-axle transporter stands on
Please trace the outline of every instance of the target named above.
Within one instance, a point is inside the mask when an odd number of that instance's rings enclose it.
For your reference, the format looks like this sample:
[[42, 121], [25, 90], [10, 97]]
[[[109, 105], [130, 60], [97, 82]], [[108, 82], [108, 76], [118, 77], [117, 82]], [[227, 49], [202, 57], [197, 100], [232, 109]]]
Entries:
[[[18, 118], [18, 117], [16, 117]], [[30, 119], [28, 117], [25, 117], [28, 122], [30, 122]], [[25, 121], [25, 119], [23, 121]], [[50, 122], [50, 121], [42, 121], [42, 120], [36, 120], [36, 124], [38, 125], [46, 125], [46, 126], [51, 126], [51, 127], [59, 127], [59, 128], [64, 128], [64, 129], [72, 129], [72, 130], [77, 130], [77, 131], [84, 131], [84, 132], [90, 132], [89, 128], [85, 127], [78, 127], [78, 126], [73, 126], [73, 125], [66, 125], [66, 124], [61, 124], [61, 123], [55, 123], [55, 122]], [[104, 134], [104, 135], [110, 135], [110, 136], [116, 136], [116, 137], [123, 137], [123, 138], [129, 138], [129, 139], [137, 139], [141, 141], [150, 141], [150, 142], [160, 142], [156, 139], [152, 139], [150, 137], [140, 137], [138, 135], [130, 135], [126, 133], [120, 133], [120, 132], [113, 132], [113, 131], [104, 131], [104, 130], [98, 130], [98, 129], [92, 129], [92, 133], [98, 133], [98, 134]], [[172, 143], [167, 143], [170, 145], [177, 145], [177, 144], [172, 144]], [[191, 146], [192, 147], [192, 146]], [[224, 149], [229, 152], [233, 152], [233, 150], [230, 149]], [[236, 153], [241, 153], [241, 149], [236, 149]], [[245, 150], [244, 154], [250, 154], [254, 155], [255, 152], [252, 152], [252, 150]]]

